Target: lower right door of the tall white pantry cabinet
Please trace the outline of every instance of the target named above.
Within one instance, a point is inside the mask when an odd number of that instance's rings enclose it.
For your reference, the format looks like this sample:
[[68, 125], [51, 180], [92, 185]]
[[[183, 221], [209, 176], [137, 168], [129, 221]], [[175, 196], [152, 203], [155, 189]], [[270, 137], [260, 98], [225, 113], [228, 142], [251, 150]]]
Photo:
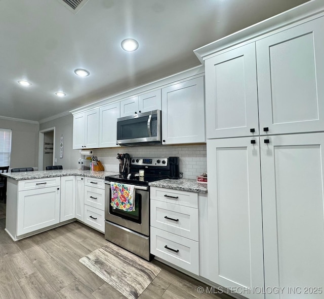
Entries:
[[305, 290], [324, 281], [324, 134], [260, 139], [265, 285], [286, 287], [266, 298], [323, 298]]

